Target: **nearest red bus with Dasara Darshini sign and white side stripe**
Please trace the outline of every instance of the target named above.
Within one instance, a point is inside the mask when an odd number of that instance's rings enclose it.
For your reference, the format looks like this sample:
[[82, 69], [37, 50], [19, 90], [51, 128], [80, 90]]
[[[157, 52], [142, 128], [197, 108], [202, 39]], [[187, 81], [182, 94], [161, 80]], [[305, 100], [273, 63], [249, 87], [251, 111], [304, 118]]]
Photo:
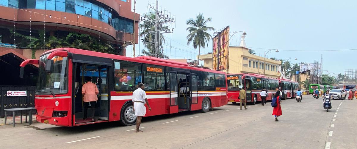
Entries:
[[[39, 65], [35, 93], [36, 120], [57, 126], [79, 126], [120, 121], [136, 123], [131, 102], [137, 84], [145, 84], [152, 107], [146, 116], [201, 110], [227, 104], [225, 72], [149, 56], [125, 57], [74, 48], [57, 48], [25, 60]], [[83, 120], [81, 87], [85, 77], [100, 90], [95, 108], [97, 121]], [[91, 110], [88, 110], [88, 115]]]

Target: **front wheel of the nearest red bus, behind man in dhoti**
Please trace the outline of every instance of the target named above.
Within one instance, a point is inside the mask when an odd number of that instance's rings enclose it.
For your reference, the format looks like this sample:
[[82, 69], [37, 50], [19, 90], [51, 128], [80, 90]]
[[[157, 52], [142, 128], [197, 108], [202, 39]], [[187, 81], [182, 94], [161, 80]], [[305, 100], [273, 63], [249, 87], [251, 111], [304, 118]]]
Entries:
[[136, 124], [134, 106], [131, 103], [125, 104], [124, 108], [121, 110], [120, 123], [124, 126]]

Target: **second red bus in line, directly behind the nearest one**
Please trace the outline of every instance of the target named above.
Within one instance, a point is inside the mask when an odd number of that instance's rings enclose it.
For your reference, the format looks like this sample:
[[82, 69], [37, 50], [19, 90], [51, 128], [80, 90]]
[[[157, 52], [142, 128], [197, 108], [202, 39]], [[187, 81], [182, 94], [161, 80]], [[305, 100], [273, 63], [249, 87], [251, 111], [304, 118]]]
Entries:
[[276, 90], [279, 89], [278, 79], [267, 78], [263, 75], [257, 74], [228, 74], [227, 75], [228, 84], [228, 102], [236, 104], [240, 102], [239, 91], [241, 87], [246, 87], [246, 102], [251, 102], [256, 104], [257, 101], [261, 101], [260, 92], [262, 89], [266, 89], [268, 96], [266, 100], [271, 100]]

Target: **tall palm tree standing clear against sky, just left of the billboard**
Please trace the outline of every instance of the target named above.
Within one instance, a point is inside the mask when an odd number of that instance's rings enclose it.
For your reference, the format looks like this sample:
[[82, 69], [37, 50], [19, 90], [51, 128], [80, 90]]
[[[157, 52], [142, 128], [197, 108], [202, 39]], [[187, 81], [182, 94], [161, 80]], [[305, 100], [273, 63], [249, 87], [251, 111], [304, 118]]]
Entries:
[[197, 49], [198, 47], [198, 57], [197, 57], [198, 63], [200, 62], [199, 60], [200, 60], [201, 47], [206, 48], [206, 45], [208, 46], [208, 42], [212, 39], [212, 36], [209, 33], [207, 33], [207, 31], [215, 30], [215, 28], [207, 26], [207, 23], [211, 21], [212, 18], [207, 18], [205, 20], [205, 17], [203, 16], [202, 13], [198, 13], [195, 20], [193, 20], [193, 18], [189, 18], [186, 21], [186, 24], [190, 26], [186, 28], [186, 31], [190, 32], [186, 37], [187, 45], [190, 45], [190, 43], [192, 42], [193, 48]]

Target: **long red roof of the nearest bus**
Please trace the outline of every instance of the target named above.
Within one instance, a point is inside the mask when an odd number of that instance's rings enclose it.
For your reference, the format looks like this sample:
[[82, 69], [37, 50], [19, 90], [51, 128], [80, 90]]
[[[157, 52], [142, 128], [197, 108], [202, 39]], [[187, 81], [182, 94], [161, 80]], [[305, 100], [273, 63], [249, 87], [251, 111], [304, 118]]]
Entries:
[[42, 55], [46, 55], [46, 54], [49, 54], [49, 53], [51, 53], [53, 51], [57, 51], [57, 50], [65, 50], [65, 51], [68, 51], [69, 53], [79, 54], [79, 55], [89, 55], [89, 56], [103, 57], [103, 58], [114, 59], [114, 60], [124, 60], [124, 61], [139, 62], [139, 63], [144, 63], [144, 64], [152, 64], [152, 65], [159, 65], [159, 66], [168, 66], [168, 67], [176, 67], [176, 68], [225, 74], [225, 72], [222, 72], [222, 71], [215, 71], [215, 70], [210, 70], [210, 69], [206, 69], [206, 68], [194, 67], [194, 66], [190, 66], [189, 64], [186, 64], [186, 63], [175, 62], [175, 61], [170, 61], [170, 60], [165, 60], [165, 59], [159, 59], [156, 57], [140, 56], [137, 58], [136, 57], [133, 58], [133, 57], [126, 57], [126, 56], [121, 56], [121, 55], [107, 54], [107, 53], [82, 50], [82, 49], [76, 49], [76, 48], [56, 48], [56, 49], [46, 51]]

